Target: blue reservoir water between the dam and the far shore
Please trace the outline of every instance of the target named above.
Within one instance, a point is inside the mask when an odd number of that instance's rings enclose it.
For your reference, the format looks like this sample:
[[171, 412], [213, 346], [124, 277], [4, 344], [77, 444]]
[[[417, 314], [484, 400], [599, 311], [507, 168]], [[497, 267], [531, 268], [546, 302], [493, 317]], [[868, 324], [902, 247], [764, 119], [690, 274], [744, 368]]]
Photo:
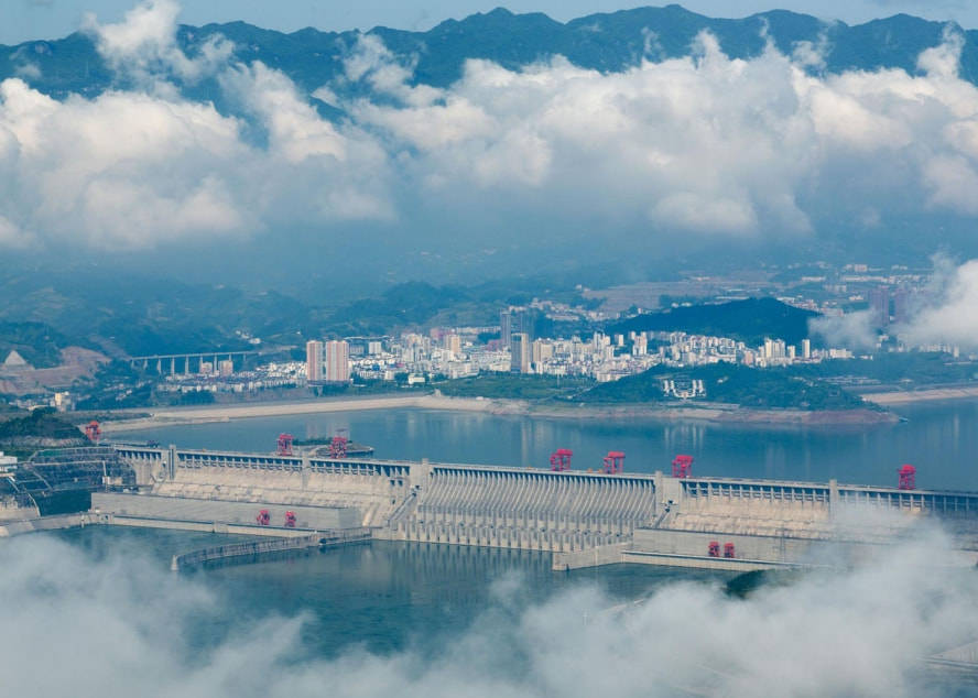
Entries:
[[184, 448], [270, 451], [282, 432], [311, 438], [347, 429], [374, 447], [378, 458], [546, 468], [554, 449], [570, 448], [574, 468], [597, 469], [609, 450], [622, 450], [626, 470], [653, 472], [669, 470], [683, 452], [695, 458], [695, 475], [881, 486], [895, 486], [896, 469], [909, 462], [917, 468], [919, 487], [978, 490], [978, 401], [932, 403], [898, 414], [905, 422], [803, 428], [402, 408], [160, 427], [131, 437]]

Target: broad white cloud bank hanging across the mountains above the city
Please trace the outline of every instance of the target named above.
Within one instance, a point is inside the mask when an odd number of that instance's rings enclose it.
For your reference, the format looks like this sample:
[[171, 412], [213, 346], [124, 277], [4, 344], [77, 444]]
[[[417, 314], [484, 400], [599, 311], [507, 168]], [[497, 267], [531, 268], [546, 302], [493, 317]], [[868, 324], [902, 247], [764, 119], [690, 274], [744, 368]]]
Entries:
[[[622, 73], [469, 61], [447, 88], [412, 84], [410, 61], [361, 35], [341, 78], [309, 96], [222, 40], [188, 56], [178, 11], [146, 0], [120, 23], [89, 20], [124, 88], [55, 101], [0, 84], [11, 226], [41, 242], [138, 248], [363, 220], [464, 236], [487, 208], [513, 229], [586, 218], [589, 235], [622, 240], [618, 226], [783, 238], [835, 217], [882, 237], [901, 212], [978, 217], [978, 89], [956, 74], [955, 32], [921, 55], [917, 76], [811, 76], [824, 46], [731, 59], [703, 34], [689, 57]], [[209, 77], [222, 111], [181, 96]], [[323, 118], [317, 99], [346, 117]]]

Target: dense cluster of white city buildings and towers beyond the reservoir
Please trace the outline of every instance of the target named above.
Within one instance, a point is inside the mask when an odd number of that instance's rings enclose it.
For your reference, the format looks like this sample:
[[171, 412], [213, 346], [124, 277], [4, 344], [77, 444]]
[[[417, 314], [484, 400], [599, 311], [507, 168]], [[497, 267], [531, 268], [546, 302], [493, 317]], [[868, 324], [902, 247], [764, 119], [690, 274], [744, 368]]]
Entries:
[[[394, 381], [426, 383], [480, 372], [573, 375], [598, 382], [641, 373], [656, 366], [688, 368], [726, 361], [767, 368], [824, 359], [852, 358], [846, 349], [813, 349], [808, 339], [797, 346], [765, 339], [749, 347], [729, 337], [683, 331], [629, 332], [569, 339], [535, 337], [534, 314], [508, 308], [498, 327], [433, 328], [427, 334], [400, 337], [350, 337], [306, 345], [307, 383]], [[676, 394], [696, 386], [678, 386]]]

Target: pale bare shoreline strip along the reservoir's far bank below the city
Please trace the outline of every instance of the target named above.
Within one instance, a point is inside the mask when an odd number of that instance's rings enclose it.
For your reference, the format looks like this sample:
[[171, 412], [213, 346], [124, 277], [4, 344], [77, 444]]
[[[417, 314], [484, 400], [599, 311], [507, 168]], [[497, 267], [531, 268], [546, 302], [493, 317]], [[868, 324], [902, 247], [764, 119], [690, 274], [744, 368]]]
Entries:
[[[133, 419], [113, 419], [102, 423], [106, 434], [121, 434], [164, 426], [224, 423], [258, 417], [328, 414], [366, 410], [444, 410], [449, 412], [482, 412], [492, 415], [531, 416], [556, 419], [696, 419], [724, 424], [838, 426], [892, 424], [899, 421], [890, 412], [876, 410], [752, 410], [737, 405], [661, 406], [644, 404], [621, 405], [553, 405], [533, 404], [522, 400], [486, 397], [447, 397], [444, 395], [389, 395], [346, 400], [259, 403], [242, 405], [209, 405], [206, 407], [164, 408], [150, 411], [151, 416]], [[142, 410], [145, 413], [146, 410]]]

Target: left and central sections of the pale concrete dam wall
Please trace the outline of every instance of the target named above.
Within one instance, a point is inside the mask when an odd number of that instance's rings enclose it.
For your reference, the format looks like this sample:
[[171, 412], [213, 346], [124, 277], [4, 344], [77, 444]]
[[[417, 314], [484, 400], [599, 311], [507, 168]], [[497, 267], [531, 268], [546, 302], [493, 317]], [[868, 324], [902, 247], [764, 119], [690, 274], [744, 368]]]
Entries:
[[[556, 552], [628, 538], [655, 509], [648, 475], [175, 448], [120, 447], [119, 454], [143, 493], [99, 495], [98, 504], [130, 516], [244, 523], [259, 505], [273, 519], [284, 508], [355, 510], [356, 525], [378, 537]], [[298, 524], [317, 527], [322, 519], [305, 513]]]

